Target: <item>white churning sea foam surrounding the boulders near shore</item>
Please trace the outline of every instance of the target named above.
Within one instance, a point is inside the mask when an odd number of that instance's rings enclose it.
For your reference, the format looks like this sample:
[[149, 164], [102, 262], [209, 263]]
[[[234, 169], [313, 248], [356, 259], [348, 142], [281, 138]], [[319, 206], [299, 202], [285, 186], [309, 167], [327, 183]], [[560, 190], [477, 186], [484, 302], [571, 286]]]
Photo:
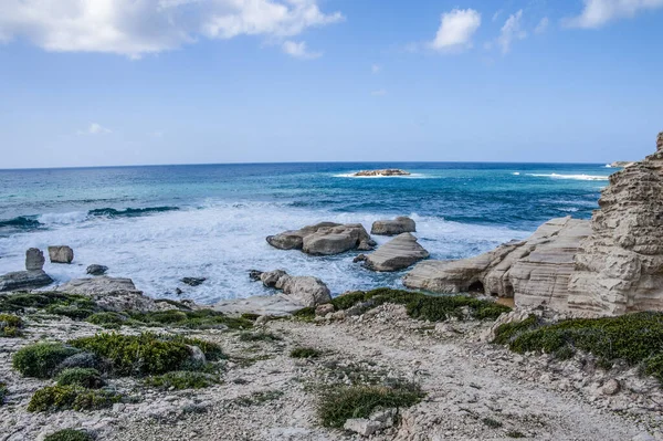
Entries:
[[[109, 275], [131, 277], [148, 295], [214, 302], [269, 293], [249, 281], [248, 271], [284, 269], [294, 275], [323, 279], [334, 294], [379, 285], [398, 286], [401, 274], [380, 274], [352, 263], [355, 254], [308, 256], [299, 251], [270, 246], [265, 237], [323, 220], [361, 222], [367, 229], [376, 219], [403, 213], [336, 213], [269, 202], [214, 203], [204, 208], [169, 211], [136, 218], [96, 218], [72, 223], [52, 222], [49, 229], [0, 238], [0, 274], [23, 269], [24, 251], [67, 244], [74, 249], [71, 265], [46, 263], [44, 270], [57, 282], [85, 276], [92, 263], [109, 266]], [[457, 259], [487, 251], [528, 232], [501, 227], [448, 222], [412, 214], [418, 233], [433, 259]], [[45, 219], [49, 219], [46, 216]], [[54, 219], [63, 219], [55, 217]], [[77, 216], [69, 219], [81, 220]], [[389, 238], [375, 237], [379, 243]], [[198, 287], [182, 285], [185, 276], [206, 276]]]

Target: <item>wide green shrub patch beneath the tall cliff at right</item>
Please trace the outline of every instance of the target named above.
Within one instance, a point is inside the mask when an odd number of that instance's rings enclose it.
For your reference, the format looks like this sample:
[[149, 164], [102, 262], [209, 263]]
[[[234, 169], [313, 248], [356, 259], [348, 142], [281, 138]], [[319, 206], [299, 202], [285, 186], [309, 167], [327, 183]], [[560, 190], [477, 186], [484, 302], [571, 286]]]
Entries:
[[561, 358], [579, 349], [598, 357], [607, 368], [617, 359], [641, 365], [643, 372], [663, 382], [663, 313], [568, 319], [524, 332], [509, 347], [517, 353], [544, 351]]

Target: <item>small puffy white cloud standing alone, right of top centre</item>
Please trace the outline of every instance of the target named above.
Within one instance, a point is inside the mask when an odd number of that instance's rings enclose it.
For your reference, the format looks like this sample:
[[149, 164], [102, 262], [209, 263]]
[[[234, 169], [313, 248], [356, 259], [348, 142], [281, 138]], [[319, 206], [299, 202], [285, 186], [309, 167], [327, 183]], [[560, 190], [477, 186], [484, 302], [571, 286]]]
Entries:
[[431, 48], [438, 51], [462, 51], [472, 48], [472, 35], [481, 27], [481, 14], [473, 9], [454, 9], [442, 14], [440, 29]]

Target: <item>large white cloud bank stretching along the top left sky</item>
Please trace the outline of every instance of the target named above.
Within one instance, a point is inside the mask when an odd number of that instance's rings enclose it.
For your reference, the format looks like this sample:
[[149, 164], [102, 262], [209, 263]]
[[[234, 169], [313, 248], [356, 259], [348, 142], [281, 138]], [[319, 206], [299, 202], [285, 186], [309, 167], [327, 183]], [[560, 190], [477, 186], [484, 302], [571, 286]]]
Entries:
[[140, 57], [201, 36], [283, 40], [341, 21], [318, 0], [1, 0], [0, 41]]

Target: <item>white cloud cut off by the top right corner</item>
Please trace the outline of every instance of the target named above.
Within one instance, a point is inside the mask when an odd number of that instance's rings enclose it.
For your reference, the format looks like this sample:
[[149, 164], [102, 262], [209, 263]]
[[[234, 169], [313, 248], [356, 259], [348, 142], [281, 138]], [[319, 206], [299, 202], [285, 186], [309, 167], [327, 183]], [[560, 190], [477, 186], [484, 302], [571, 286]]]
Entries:
[[621, 18], [634, 17], [641, 11], [663, 8], [663, 0], [582, 0], [580, 15], [566, 19], [569, 28], [592, 29]]

